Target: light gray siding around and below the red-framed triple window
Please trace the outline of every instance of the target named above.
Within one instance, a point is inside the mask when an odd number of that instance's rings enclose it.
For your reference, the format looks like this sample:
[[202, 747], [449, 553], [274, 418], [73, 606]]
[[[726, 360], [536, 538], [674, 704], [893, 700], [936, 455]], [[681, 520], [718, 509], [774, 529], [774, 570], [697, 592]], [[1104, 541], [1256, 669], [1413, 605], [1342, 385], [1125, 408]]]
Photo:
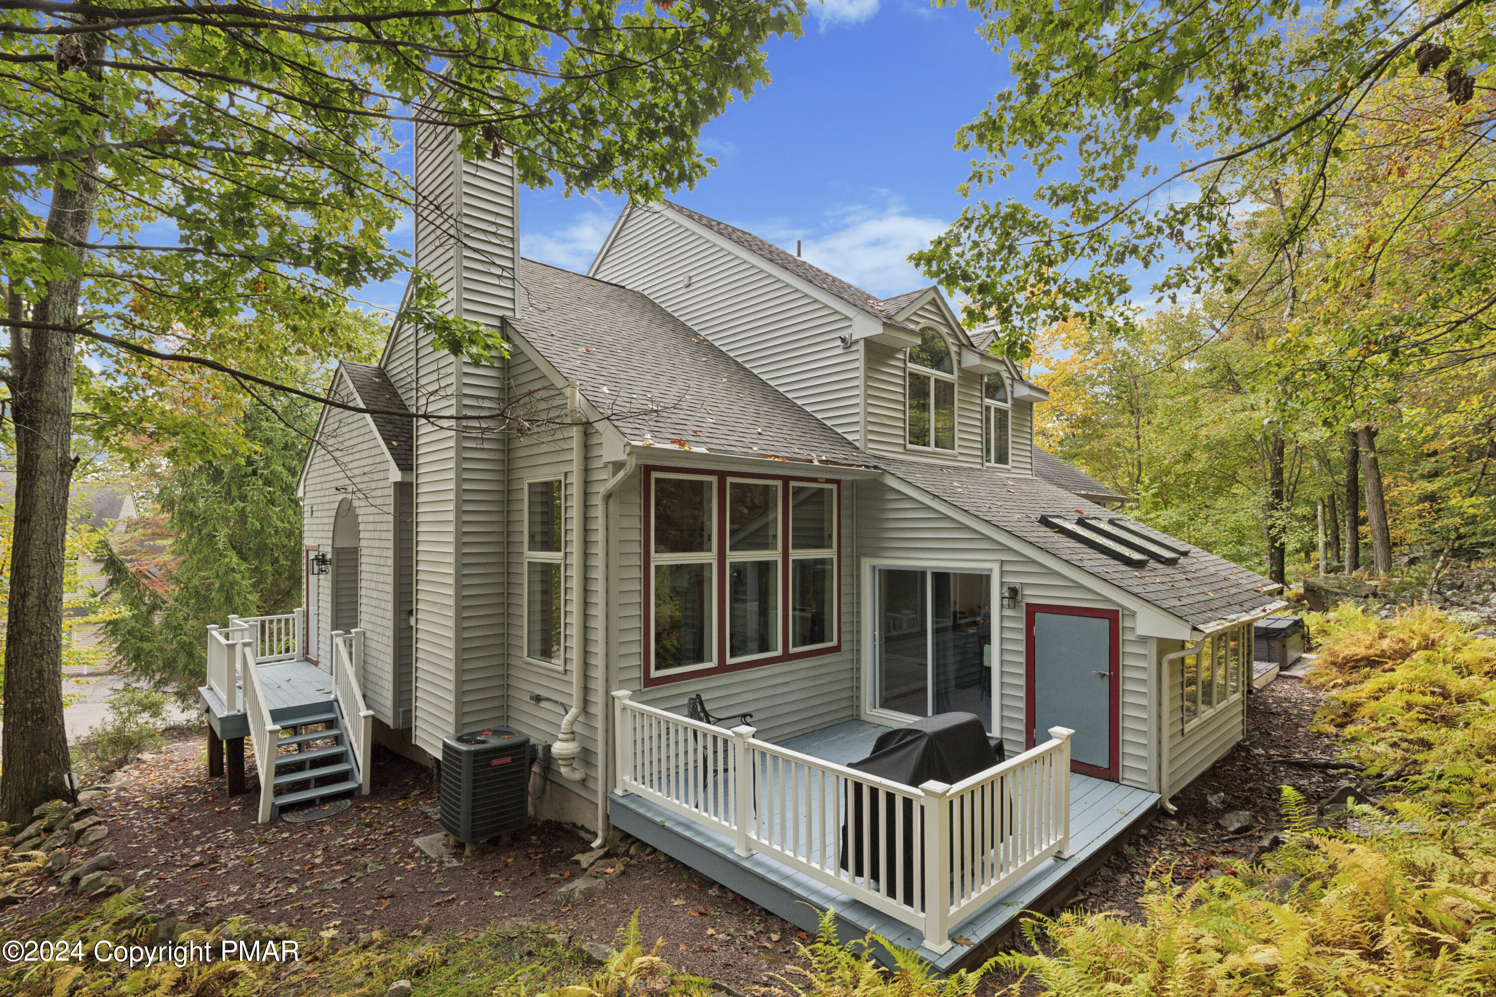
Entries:
[[700, 679], [684, 679], [651, 688], [643, 686], [642, 608], [645, 598], [640, 575], [642, 505], [639, 481], [619, 489], [619, 556], [613, 571], [610, 598], [618, 610], [618, 688], [630, 689], [640, 703], [685, 713], [685, 701], [700, 692], [712, 713], [752, 713], [758, 737], [779, 741], [859, 716], [856, 559], [851, 556], [857, 532], [856, 504], [850, 483], [841, 486], [841, 635], [836, 653], [800, 661], [742, 668]]

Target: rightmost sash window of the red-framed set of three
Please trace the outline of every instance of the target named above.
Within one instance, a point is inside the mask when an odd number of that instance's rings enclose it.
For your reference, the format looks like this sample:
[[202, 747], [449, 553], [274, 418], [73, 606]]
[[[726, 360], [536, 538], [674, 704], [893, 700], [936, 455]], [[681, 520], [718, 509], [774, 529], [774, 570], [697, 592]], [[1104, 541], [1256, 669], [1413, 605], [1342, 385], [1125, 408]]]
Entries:
[[790, 484], [790, 650], [836, 643], [836, 489]]

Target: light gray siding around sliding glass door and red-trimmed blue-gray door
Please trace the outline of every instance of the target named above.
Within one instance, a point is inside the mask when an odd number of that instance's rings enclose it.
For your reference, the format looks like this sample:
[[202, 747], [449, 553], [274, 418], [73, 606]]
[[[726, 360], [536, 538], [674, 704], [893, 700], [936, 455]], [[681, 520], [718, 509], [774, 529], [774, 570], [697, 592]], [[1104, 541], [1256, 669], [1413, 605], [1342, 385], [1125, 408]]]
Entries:
[[[1119, 608], [1094, 592], [1038, 564], [984, 532], [931, 508], [880, 481], [857, 484], [857, 559], [863, 570], [880, 561], [904, 561], [929, 568], [968, 568], [990, 571], [999, 568], [999, 584], [1019, 584], [1025, 602], [1002, 607], [993, 593], [993, 608], [999, 614], [1002, 662], [1002, 738], [1010, 758], [1025, 746], [1025, 605], [1046, 602], [1095, 608]], [[1122, 610], [1122, 782], [1131, 786], [1149, 785], [1149, 664], [1147, 640], [1137, 635], [1134, 614]], [[871, 662], [869, 662], [871, 665]]]

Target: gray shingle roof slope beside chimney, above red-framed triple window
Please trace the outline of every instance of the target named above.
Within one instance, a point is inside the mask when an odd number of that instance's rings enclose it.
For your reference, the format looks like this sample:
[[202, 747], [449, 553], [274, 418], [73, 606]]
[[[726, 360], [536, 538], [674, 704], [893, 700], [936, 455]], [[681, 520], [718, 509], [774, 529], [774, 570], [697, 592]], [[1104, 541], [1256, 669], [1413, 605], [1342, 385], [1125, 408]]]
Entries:
[[521, 260], [515, 329], [631, 442], [863, 465], [826, 423], [639, 291]]

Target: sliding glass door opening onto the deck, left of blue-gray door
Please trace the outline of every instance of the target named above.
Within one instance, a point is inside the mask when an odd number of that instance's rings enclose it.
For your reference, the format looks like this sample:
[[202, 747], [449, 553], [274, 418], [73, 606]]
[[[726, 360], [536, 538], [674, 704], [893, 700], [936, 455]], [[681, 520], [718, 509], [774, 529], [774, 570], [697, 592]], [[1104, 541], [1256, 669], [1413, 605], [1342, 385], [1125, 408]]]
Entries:
[[877, 570], [872, 706], [911, 717], [975, 713], [990, 732], [992, 575]]

